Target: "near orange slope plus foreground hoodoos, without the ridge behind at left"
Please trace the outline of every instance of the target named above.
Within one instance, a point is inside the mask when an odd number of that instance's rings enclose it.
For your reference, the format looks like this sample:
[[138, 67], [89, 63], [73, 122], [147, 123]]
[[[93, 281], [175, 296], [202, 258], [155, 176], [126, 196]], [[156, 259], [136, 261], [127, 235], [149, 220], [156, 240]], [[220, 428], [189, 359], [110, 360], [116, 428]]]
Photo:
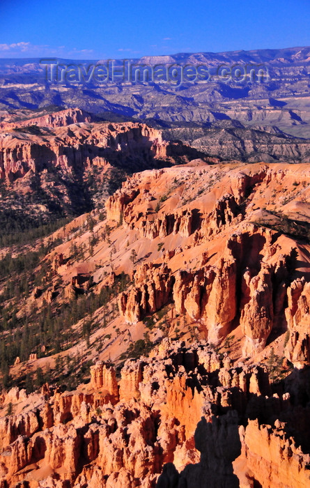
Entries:
[[[307, 164], [196, 159], [49, 236], [18, 305], [38, 345], [1, 395], [0, 486], [307, 487], [309, 188]], [[61, 351], [38, 335], [36, 310], [102, 293]], [[49, 383], [27, 392], [38, 368]]]

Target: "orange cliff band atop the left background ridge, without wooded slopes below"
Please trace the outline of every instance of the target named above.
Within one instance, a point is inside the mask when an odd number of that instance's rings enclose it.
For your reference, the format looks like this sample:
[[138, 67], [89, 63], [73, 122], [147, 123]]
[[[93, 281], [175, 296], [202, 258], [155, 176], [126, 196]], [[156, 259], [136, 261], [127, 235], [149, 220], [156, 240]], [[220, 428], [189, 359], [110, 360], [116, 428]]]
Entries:
[[[59, 169], [78, 174], [85, 169], [123, 165], [137, 169], [166, 159], [161, 132], [140, 123], [89, 123], [79, 110], [56, 112], [5, 125], [1, 134], [2, 180], [15, 181], [29, 171]], [[143, 164], [142, 164], [143, 163]]]

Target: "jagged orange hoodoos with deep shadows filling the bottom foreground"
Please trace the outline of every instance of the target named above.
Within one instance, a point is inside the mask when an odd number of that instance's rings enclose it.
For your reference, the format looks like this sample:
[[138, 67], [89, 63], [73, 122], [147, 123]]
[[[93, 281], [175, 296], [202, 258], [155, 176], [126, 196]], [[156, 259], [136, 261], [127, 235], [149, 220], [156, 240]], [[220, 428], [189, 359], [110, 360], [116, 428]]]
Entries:
[[[103, 362], [91, 378], [74, 392], [2, 395], [1, 412], [16, 413], [1, 418], [1, 487], [307, 486], [310, 457], [289, 437], [307, 410], [285, 389], [272, 396], [264, 367], [167, 339], [127, 361], [119, 384]], [[304, 443], [308, 430], [295, 435]]]

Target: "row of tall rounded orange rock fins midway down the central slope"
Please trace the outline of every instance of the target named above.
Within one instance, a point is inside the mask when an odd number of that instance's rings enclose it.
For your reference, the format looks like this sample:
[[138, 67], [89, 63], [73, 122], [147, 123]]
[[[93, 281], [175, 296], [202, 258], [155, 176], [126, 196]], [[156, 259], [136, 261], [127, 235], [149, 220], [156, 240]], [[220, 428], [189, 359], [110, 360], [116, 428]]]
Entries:
[[[206, 326], [206, 337], [213, 343], [226, 337], [238, 319], [247, 339], [245, 356], [262, 351], [277, 325], [274, 310], [284, 310], [290, 260], [288, 254], [273, 265], [259, 262], [258, 246], [271, 236], [255, 227], [252, 234], [240, 232], [228, 239], [222, 259], [199, 270], [173, 273], [166, 264], [152, 263], [138, 267], [134, 286], [118, 298], [120, 313], [128, 323], [137, 323], [172, 302], [177, 314], [187, 313]], [[252, 255], [247, 253], [249, 245]]]

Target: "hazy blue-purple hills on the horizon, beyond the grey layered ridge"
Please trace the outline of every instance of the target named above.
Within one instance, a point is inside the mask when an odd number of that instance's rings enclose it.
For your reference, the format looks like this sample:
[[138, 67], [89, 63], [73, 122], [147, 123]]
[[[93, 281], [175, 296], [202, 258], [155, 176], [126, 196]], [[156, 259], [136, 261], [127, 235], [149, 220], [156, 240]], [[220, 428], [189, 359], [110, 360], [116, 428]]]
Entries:
[[[58, 59], [61, 64], [87, 65], [105, 61]], [[131, 59], [138, 66], [156, 63], [179, 66], [203, 65], [210, 80], [168, 82], [123, 82], [105, 84], [50, 83], [40, 59], [0, 60], [0, 111], [41, 109], [48, 105], [79, 107], [87, 112], [109, 112], [126, 120], [195, 122], [204, 124], [226, 119], [244, 125], [276, 125], [298, 137], [310, 137], [310, 47], [256, 49], [252, 51], [178, 53], [169, 56], [144, 56]], [[222, 68], [256, 65], [267, 73], [263, 82], [233, 76], [225, 77]], [[219, 70], [219, 77], [217, 71]], [[241, 80], [241, 81], [240, 81]], [[176, 83], [175, 83], [176, 84]], [[43, 87], [43, 89], [42, 89]], [[0, 112], [1, 117], [1, 112]]]

